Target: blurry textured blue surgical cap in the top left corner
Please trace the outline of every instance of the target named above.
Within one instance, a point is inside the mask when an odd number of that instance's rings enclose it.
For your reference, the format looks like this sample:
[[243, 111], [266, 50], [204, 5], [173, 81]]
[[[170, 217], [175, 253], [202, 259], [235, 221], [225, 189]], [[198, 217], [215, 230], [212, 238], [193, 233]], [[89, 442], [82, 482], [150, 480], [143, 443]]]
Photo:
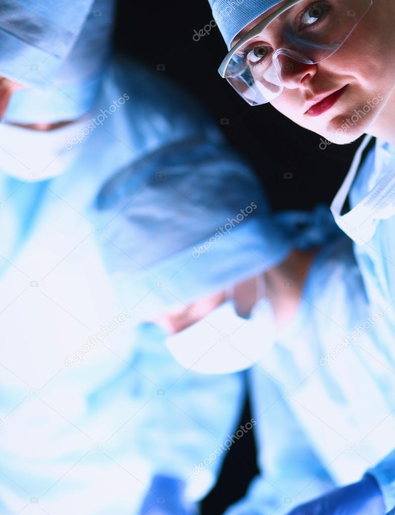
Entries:
[[0, 2], [0, 76], [26, 87], [54, 77], [74, 45], [94, 0]]

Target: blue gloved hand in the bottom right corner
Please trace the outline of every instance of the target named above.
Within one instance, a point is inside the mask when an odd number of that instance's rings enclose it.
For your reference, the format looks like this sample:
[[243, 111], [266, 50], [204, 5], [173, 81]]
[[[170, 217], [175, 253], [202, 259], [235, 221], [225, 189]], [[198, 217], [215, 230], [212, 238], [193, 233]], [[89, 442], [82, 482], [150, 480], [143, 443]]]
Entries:
[[337, 488], [288, 515], [385, 515], [383, 494], [370, 474], [352, 485]]

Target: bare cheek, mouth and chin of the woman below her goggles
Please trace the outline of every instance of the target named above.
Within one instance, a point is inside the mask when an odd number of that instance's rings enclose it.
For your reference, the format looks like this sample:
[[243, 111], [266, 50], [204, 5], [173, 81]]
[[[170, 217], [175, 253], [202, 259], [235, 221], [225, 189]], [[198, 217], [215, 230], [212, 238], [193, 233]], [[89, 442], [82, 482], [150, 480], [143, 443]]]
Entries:
[[[293, 122], [335, 143], [349, 143], [365, 132], [374, 133], [374, 126], [383, 122], [388, 110], [395, 113], [391, 96], [395, 84], [394, 22], [395, 2], [373, 0], [368, 13], [333, 56], [314, 65], [293, 61], [293, 70], [282, 72], [285, 89], [271, 104]], [[329, 98], [323, 100], [323, 96]], [[311, 109], [313, 105], [316, 107]]]

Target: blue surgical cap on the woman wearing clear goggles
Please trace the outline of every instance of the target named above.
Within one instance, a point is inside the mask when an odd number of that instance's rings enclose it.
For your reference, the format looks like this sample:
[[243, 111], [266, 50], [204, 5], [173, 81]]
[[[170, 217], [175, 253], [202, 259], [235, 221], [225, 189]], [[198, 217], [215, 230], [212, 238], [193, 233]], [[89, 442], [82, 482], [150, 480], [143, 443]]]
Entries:
[[234, 37], [282, 0], [209, 0], [214, 20], [230, 48]]

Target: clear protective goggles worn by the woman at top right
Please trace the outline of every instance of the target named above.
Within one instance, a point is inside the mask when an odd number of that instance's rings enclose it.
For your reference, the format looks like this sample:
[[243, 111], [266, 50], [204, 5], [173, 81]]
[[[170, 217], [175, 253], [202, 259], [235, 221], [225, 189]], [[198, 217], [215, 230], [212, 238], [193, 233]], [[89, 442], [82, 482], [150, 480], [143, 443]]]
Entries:
[[218, 68], [251, 106], [267, 104], [284, 90], [281, 77], [294, 62], [318, 64], [351, 35], [373, 0], [290, 0], [255, 25]]

